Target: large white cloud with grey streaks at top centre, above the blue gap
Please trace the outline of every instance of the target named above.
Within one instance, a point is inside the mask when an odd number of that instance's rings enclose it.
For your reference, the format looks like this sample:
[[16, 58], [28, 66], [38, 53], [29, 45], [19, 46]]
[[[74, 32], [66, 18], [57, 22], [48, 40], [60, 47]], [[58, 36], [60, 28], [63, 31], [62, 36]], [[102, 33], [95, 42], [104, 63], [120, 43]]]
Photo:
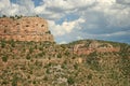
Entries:
[[94, 3], [95, 0], [43, 0], [41, 5], [36, 6], [35, 12], [56, 20], [67, 14], [86, 10]]

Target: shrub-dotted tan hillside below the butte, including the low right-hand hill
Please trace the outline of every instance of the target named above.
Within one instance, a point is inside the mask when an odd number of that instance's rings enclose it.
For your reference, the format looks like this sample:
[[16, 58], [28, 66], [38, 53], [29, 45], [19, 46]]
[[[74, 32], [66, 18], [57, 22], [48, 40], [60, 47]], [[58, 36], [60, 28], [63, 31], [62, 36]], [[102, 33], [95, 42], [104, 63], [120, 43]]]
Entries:
[[129, 44], [0, 41], [0, 86], [129, 85]]

